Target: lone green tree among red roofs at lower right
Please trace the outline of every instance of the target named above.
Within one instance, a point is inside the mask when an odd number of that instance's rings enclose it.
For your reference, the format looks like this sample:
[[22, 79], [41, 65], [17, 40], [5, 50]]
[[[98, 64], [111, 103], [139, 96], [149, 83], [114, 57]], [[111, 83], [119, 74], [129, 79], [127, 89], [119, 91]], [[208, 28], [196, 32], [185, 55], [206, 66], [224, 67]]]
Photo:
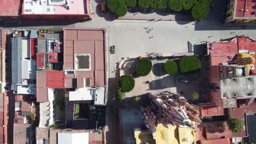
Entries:
[[243, 130], [243, 121], [238, 118], [229, 118], [228, 127], [233, 133], [239, 133]]

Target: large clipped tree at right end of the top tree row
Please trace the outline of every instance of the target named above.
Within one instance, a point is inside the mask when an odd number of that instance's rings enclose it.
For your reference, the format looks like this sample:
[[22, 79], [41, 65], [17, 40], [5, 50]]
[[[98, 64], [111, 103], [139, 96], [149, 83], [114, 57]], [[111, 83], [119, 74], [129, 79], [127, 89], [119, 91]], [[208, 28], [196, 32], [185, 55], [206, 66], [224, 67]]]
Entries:
[[191, 14], [194, 20], [205, 18], [210, 10], [210, 2], [208, 0], [195, 0]]

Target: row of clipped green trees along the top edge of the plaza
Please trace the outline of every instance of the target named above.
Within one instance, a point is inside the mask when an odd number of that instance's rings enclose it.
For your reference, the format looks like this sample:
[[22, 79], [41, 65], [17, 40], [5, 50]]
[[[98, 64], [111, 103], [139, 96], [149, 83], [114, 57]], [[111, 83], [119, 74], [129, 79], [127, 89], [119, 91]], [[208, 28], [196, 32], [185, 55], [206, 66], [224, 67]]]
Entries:
[[201, 20], [210, 10], [210, 0], [108, 0], [108, 9], [118, 16], [127, 14], [127, 7], [139, 5], [142, 9], [171, 9], [172, 11], [191, 10], [195, 20]]

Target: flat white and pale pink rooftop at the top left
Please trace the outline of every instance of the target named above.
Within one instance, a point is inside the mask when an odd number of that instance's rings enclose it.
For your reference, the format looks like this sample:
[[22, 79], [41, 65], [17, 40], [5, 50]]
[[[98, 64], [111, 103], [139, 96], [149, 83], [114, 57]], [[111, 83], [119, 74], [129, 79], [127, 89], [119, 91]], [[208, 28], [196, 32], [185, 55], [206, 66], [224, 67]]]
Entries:
[[24, 0], [22, 14], [87, 14], [86, 0]]

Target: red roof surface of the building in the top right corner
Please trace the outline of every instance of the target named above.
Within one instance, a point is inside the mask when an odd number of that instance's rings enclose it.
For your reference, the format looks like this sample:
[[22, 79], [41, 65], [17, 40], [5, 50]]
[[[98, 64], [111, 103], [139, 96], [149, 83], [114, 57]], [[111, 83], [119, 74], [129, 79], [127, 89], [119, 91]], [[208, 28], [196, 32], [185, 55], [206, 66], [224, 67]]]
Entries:
[[255, 17], [255, 5], [255, 1], [252, 0], [236, 0], [235, 17]]

